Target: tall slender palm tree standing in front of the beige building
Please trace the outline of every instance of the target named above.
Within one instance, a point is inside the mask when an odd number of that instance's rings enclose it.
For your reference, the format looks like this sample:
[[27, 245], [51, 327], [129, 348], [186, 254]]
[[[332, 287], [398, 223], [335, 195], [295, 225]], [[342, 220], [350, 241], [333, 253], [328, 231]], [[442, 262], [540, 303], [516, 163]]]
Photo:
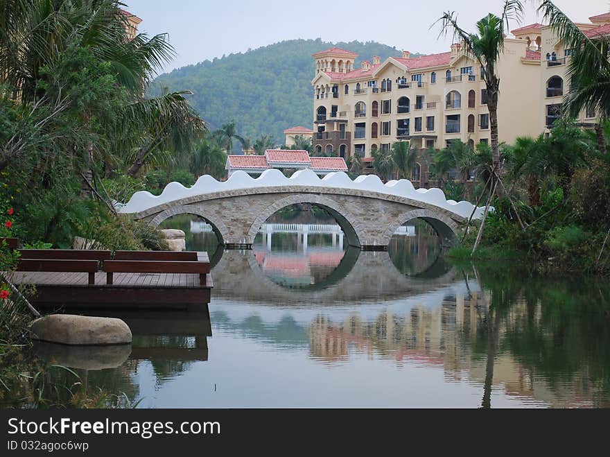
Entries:
[[[491, 12], [476, 24], [476, 33], [464, 31], [458, 24], [455, 12], [445, 12], [437, 21], [442, 24], [441, 35], [451, 31], [453, 40], [465, 46], [469, 55], [482, 67], [482, 77], [487, 88], [487, 107], [489, 108], [489, 128], [491, 131], [491, 153], [494, 169], [501, 179], [500, 141], [498, 139], [498, 61], [504, 51], [504, 38], [509, 31], [509, 21], [521, 22], [523, 4], [519, 0], [506, 0], [500, 16]], [[495, 178], [494, 178], [495, 180]], [[492, 186], [493, 188], [493, 186]]]

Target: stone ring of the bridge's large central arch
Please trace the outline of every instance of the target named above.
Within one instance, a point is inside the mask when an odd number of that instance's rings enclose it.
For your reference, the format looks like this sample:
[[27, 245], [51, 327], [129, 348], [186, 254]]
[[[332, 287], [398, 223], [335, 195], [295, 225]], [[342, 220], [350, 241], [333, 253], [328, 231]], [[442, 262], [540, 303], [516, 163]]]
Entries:
[[343, 230], [347, 238], [347, 243], [354, 246], [354, 248], [360, 248], [358, 223], [354, 221], [354, 218], [346, 216], [345, 208], [341, 208], [340, 205], [331, 200], [331, 198], [326, 198], [315, 194], [296, 194], [290, 197], [282, 198], [281, 200], [277, 200], [273, 205], [270, 205], [267, 209], [261, 212], [256, 219], [254, 219], [254, 223], [252, 223], [252, 226], [247, 233], [246, 243], [254, 243], [254, 238], [259, 232], [261, 226], [265, 223], [265, 221], [267, 221], [268, 218], [273, 216], [273, 214], [277, 213], [280, 209], [291, 205], [299, 205], [300, 203], [309, 203], [325, 209], [340, 225], [341, 230]]

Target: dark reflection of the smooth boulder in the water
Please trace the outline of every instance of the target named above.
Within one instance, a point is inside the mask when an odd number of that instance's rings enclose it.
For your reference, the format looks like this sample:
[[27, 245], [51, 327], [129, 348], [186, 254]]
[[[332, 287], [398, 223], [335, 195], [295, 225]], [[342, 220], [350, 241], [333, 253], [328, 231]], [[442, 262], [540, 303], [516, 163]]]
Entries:
[[131, 345], [67, 346], [37, 341], [34, 351], [49, 363], [80, 370], [105, 370], [123, 365], [131, 354]]

